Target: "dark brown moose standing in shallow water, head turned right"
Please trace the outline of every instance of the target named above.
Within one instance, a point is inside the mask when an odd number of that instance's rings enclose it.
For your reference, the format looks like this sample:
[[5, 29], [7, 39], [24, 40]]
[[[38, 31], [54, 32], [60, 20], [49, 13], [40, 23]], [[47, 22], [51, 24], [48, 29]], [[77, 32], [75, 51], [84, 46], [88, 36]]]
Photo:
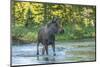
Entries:
[[51, 45], [53, 49], [53, 55], [55, 56], [55, 35], [57, 33], [63, 33], [64, 29], [61, 27], [61, 23], [58, 17], [53, 17], [45, 26], [41, 27], [37, 37], [37, 55], [39, 55], [39, 44], [43, 45], [42, 55], [45, 51], [48, 55], [48, 46]]

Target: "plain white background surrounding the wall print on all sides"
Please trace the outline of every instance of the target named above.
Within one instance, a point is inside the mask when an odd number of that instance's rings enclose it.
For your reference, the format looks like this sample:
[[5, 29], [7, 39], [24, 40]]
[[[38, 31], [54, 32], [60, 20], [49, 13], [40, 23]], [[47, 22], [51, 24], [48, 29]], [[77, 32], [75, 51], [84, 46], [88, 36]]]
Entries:
[[[37, 0], [34, 0], [37, 1]], [[40, 1], [40, 0], [38, 0]], [[42, 2], [47, 0], [41, 0]], [[36, 67], [99, 67], [100, 65], [100, 0], [48, 0], [71, 4], [87, 4], [97, 6], [97, 61], [86, 63], [39, 65]], [[95, 2], [96, 1], [96, 2]], [[10, 64], [10, 0], [0, 1], [0, 67], [9, 67]], [[26, 66], [25, 66], [26, 67]], [[28, 66], [33, 67], [33, 66]], [[34, 66], [35, 67], [35, 66]]]

